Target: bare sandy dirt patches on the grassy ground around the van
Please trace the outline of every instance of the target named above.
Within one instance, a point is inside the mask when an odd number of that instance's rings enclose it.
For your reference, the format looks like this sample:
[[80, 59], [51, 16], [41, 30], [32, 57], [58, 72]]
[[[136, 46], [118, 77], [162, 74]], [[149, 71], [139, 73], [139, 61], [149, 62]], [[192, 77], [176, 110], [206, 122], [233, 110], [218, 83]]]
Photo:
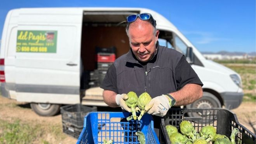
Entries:
[[[256, 103], [242, 102], [239, 108], [233, 109], [232, 112], [237, 115], [237, 118], [242, 125], [255, 133]], [[37, 123], [61, 124], [60, 114], [51, 117], [38, 116], [29, 107], [29, 104], [6, 99], [0, 96], [0, 119], [10, 120], [11, 118], [19, 118], [22, 121], [37, 121]], [[66, 135], [65, 139], [61, 142], [55, 141], [51, 135], [48, 135], [45, 139], [50, 143], [71, 144], [77, 142], [77, 139], [70, 137], [69, 135]]]

